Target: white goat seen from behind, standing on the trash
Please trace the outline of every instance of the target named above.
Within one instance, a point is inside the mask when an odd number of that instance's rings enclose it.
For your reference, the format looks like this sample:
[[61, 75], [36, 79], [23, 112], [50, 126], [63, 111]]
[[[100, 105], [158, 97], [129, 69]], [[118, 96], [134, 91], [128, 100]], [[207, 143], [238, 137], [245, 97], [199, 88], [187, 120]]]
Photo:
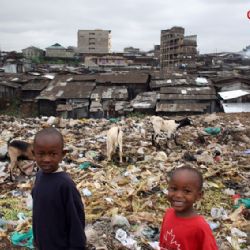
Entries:
[[107, 157], [108, 161], [111, 161], [112, 154], [116, 151], [119, 146], [120, 163], [122, 163], [122, 137], [123, 132], [121, 127], [115, 126], [107, 132]]

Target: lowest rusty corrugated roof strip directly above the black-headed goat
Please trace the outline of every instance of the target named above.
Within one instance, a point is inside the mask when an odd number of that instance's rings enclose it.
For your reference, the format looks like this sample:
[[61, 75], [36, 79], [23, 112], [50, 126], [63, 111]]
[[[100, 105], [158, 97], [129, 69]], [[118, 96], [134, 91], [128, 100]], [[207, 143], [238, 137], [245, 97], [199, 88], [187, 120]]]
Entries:
[[209, 103], [157, 103], [156, 112], [204, 112]]

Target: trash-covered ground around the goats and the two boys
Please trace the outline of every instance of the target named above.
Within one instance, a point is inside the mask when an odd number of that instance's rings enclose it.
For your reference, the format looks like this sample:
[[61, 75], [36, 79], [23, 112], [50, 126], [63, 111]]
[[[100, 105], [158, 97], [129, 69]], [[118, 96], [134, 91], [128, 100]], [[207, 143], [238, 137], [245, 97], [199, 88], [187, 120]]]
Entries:
[[[156, 148], [151, 142], [149, 116], [121, 120], [0, 116], [0, 249], [20, 249], [13, 245], [20, 242], [25, 249], [32, 247], [30, 191], [34, 177], [15, 169], [16, 180], [9, 181], [7, 141], [31, 142], [38, 130], [51, 125], [65, 138], [68, 153], [62, 166], [85, 204], [89, 249], [154, 249], [169, 206], [168, 173], [182, 165], [203, 173], [204, 198], [196, 206], [213, 229], [219, 249], [250, 249], [250, 114], [189, 118], [194, 126], [178, 130], [178, 145], [170, 141], [166, 147], [163, 135]], [[112, 162], [106, 157], [106, 132], [116, 123], [124, 131], [122, 164], [118, 153]], [[19, 164], [33, 167], [27, 161]]]

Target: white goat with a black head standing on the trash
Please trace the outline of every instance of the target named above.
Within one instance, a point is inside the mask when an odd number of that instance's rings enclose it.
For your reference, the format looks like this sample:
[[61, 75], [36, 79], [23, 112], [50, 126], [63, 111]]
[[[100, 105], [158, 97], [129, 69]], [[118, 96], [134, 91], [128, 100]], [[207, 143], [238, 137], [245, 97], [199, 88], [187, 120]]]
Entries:
[[[167, 139], [174, 139], [175, 144], [180, 145], [176, 139], [176, 131], [182, 127], [193, 125], [192, 121], [187, 117], [181, 120], [164, 120], [159, 116], [152, 116], [150, 120], [154, 129], [152, 136], [153, 146], [158, 144], [157, 137], [160, 136], [161, 132], [167, 133]], [[169, 147], [168, 144], [167, 147]]]

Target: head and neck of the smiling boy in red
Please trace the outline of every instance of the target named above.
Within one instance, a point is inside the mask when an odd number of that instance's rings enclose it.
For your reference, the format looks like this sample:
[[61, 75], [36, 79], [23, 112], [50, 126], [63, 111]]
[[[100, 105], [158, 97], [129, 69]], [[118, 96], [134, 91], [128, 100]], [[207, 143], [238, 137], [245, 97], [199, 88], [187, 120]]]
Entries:
[[193, 204], [201, 195], [199, 178], [195, 173], [188, 170], [174, 173], [168, 186], [168, 200], [177, 216], [192, 216]]

